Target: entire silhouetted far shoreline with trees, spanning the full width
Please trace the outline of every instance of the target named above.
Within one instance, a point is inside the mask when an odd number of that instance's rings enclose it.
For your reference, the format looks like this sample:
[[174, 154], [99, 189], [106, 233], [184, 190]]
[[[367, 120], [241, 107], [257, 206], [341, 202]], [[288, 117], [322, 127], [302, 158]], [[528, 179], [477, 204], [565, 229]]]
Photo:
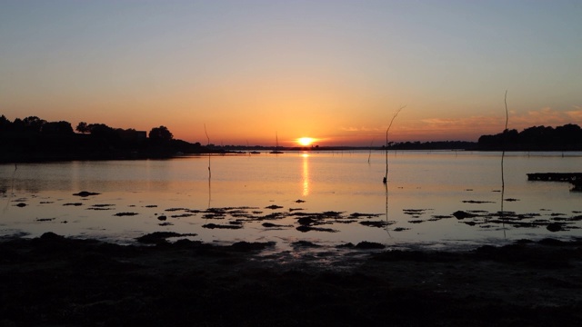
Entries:
[[[76, 133], [75, 133], [76, 131]], [[385, 145], [375, 147], [386, 149]], [[47, 122], [36, 116], [14, 122], [0, 116], [0, 162], [50, 160], [101, 160], [167, 158], [176, 154], [228, 153], [267, 150], [273, 147], [255, 145], [203, 146], [174, 139], [166, 128], [152, 128], [149, 133], [135, 129], [109, 127], [105, 124], [77, 124], [65, 121]], [[350, 150], [369, 147], [292, 147], [279, 150]], [[507, 151], [582, 151], [582, 129], [577, 124], [556, 128], [534, 126], [517, 132], [506, 130], [494, 135], [482, 135], [478, 142], [400, 142], [389, 143], [390, 150], [507, 150]]]

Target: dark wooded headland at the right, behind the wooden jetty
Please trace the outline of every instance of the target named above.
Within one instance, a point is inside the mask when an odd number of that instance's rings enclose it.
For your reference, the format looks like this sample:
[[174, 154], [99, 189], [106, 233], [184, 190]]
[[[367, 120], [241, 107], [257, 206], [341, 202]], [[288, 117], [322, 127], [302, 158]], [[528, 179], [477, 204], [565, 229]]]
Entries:
[[479, 137], [477, 150], [581, 151], [582, 129], [577, 124], [565, 124], [556, 128], [533, 126], [521, 132], [506, 130]]

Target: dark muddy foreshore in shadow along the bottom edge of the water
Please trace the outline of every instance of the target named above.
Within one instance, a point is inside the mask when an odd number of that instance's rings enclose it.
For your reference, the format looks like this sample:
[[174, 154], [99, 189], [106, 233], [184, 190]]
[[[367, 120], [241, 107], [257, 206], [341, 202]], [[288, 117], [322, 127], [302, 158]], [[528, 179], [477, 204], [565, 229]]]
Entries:
[[[268, 243], [0, 242], [0, 326], [574, 326], [582, 242], [347, 250], [322, 264]], [[320, 254], [318, 254], [320, 255]], [[287, 253], [293, 257], [293, 253]]]

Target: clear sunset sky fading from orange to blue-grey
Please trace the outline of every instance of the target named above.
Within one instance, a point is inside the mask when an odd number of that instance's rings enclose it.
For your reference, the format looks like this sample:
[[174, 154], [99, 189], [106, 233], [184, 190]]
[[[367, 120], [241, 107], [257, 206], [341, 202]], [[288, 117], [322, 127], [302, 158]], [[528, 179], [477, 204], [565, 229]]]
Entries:
[[0, 0], [0, 114], [212, 144], [582, 125], [582, 2]]

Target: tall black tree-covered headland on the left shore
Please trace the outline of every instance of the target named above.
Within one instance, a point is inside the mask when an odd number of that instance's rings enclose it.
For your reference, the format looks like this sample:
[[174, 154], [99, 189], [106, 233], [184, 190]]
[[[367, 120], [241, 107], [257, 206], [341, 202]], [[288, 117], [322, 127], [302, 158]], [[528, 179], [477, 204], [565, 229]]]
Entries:
[[154, 127], [147, 134], [83, 122], [75, 130], [78, 133], [65, 121], [47, 122], [30, 116], [11, 122], [2, 115], [0, 162], [163, 158], [206, 152], [199, 143], [174, 139], [165, 126]]

